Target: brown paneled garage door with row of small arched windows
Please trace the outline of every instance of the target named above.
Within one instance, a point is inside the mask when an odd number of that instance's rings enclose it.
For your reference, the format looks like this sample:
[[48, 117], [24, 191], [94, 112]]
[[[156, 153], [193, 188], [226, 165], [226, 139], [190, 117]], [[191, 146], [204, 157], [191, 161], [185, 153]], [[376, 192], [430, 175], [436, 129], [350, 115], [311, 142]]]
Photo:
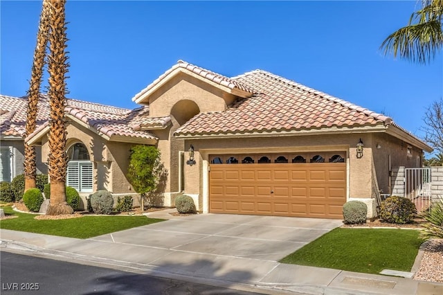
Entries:
[[211, 213], [343, 217], [343, 153], [215, 155], [210, 159]]

